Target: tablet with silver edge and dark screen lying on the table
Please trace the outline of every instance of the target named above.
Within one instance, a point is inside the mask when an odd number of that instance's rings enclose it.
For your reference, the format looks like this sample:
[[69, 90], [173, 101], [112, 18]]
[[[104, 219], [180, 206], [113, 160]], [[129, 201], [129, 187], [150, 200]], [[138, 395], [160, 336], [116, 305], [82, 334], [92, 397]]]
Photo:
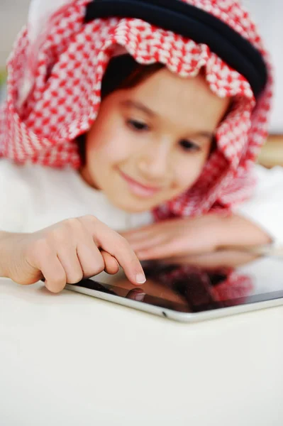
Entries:
[[[205, 258], [204, 258], [205, 259]], [[225, 259], [225, 256], [223, 256]], [[121, 270], [66, 288], [182, 322], [196, 322], [283, 304], [283, 259], [258, 258], [239, 266], [146, 262], [137, 287]]]

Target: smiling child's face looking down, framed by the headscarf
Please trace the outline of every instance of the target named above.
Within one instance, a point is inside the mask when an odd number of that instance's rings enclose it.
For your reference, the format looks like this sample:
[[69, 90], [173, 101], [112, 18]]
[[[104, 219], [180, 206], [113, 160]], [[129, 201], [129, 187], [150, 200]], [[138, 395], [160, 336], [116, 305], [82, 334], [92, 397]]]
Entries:
[[113, 92], [87, 134], [82, 177], [128, 212], [172, 200], [199, 178], [228, 104], [202, 75], [166, 68]]

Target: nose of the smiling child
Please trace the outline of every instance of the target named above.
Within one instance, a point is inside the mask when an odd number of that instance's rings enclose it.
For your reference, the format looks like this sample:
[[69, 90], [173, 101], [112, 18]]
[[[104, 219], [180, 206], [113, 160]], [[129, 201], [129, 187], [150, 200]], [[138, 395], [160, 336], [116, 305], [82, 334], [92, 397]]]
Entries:
[[163, 180], [171, 172], [172, 142], [169, 138], [150, 141], [138, 157], [138, 170], [147, 180]]

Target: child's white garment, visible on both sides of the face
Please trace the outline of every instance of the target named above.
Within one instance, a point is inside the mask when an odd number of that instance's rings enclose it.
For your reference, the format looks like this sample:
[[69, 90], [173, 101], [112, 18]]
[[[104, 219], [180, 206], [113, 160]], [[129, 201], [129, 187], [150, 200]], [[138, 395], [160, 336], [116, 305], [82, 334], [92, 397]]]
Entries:
[[[283, 168], [255, 166], [254, 197], [234, 209], [283, 244]], [[151, 212], [127, 213], [114, 207], [103, 192], [89, 187], [71, 168], [15, 165], [0, 160], [0, 230], [33, 232], [70, 217], [93, 214], [116, 231], [153, 221]]]

